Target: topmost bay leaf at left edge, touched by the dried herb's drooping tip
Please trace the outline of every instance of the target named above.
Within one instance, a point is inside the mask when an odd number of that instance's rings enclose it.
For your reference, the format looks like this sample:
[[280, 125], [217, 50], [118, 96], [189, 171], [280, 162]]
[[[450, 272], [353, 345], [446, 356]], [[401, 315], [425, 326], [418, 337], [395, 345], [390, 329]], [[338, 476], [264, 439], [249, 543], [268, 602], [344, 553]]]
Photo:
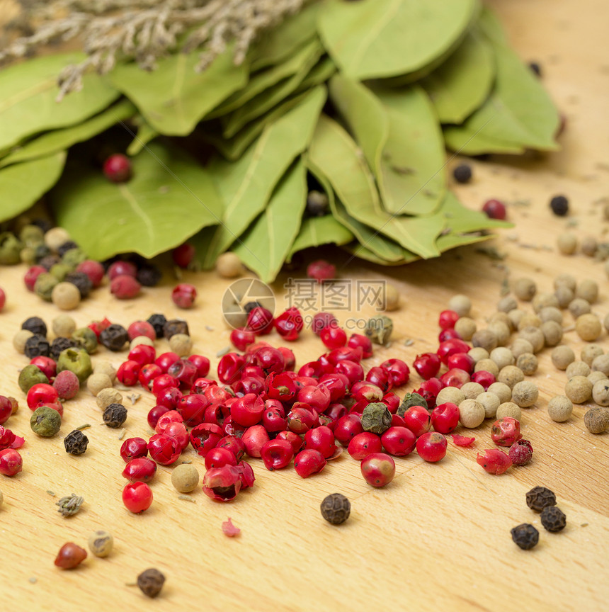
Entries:
[[81, 123], [106, 108], [119, 92], [98, 74], [85, 74], [83, 88], [61, 102], [57, 77], [84, 54], [48, 55], [28, 59], [0, 71], [0, 150], [38, 132]]

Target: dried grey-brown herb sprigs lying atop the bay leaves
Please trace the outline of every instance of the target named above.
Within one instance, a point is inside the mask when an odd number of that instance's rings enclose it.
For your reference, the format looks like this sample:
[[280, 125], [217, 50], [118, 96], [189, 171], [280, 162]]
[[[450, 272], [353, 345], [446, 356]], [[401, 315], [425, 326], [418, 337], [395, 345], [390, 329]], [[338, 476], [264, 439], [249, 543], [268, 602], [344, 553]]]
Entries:
[[[152, 70], [156, 60], [178, 48], [200, 51], [195, 69], [205, 70], [234, 42], [234, 62], [244, 61], [251, 42], [263, 30], [297, 13], [307, 0], [54, 0], [24, 1], [28, 16], [38, 21], [33, 33], [13, 40], [0, 51], [0, 63], [30, 55], [38, 48], [79, 39], [87, 56], [59, 74], [59, 98], [78, 91], [89, 69], [106, 74], [118, 60], [135, 60]], [[34, 17], [35, 16], [35, 17]], [[31, 25], [31, 24], [28, 24]], [[183, 42], [181, 37], [184, 36]]]

